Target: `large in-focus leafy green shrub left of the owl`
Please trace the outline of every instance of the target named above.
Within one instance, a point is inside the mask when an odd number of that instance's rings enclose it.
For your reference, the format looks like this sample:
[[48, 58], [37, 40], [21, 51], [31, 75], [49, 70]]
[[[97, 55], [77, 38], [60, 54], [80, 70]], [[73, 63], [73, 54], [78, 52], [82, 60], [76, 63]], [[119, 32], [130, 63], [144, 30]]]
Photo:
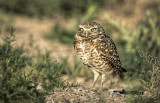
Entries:
[[0, 44], [0, 102], [43, 102], [44, 95], [55, 87], [64, 86], [60, 79], [62, 66], [50, 53], [30, 56], [23, 47], [13, 44], [12, 28]]

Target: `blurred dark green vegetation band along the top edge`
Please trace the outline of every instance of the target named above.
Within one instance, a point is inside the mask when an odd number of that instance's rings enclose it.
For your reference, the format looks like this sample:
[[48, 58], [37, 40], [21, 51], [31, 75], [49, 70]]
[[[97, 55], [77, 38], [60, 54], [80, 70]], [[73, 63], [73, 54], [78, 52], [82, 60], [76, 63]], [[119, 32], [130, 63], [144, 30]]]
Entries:
[[[124, 0], [120, 0], [124, 1]], [[23, 14], [28, 16], [54, 16], [57, 12], [72, 16], [76, 13], [83, 14], [91, 4], [113, 6], [119, 3], [119, 0], [1, 0], [0, 9], [6, 12]]]

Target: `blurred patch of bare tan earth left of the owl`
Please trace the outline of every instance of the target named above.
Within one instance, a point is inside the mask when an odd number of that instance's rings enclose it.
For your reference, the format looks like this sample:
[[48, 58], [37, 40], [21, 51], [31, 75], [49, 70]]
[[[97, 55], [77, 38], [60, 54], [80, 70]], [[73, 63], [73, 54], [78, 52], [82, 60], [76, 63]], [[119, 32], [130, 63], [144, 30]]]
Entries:
[[[46, 50], [51, 51], [51, 56], [55, 60], [73, 54], [73, 47], [56, 41], [46, 40], [43, 37], [55, 25], [55, 21], [52, 19], [38, 20], [27, 17], [16, 17], [13, 25], [16, 29], [15, 35], [18, 45], [23, 45], [25, 48], [30, 49], [31, 53], [34, 53], [35, 48], [38, 47], [41, 52], [45, 52]], [[29, 46], [31, 37], [33, 39], [33, 47]]]

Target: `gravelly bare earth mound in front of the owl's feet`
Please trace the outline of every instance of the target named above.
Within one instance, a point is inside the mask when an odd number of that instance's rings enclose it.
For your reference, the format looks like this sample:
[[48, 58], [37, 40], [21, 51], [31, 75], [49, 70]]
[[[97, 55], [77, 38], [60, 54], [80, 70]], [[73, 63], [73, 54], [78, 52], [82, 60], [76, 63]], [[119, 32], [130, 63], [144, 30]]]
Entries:
[[46, 97], [46, 103], [124, 103], [124, 91], [99, 91], [80, 87], [58, 88]]

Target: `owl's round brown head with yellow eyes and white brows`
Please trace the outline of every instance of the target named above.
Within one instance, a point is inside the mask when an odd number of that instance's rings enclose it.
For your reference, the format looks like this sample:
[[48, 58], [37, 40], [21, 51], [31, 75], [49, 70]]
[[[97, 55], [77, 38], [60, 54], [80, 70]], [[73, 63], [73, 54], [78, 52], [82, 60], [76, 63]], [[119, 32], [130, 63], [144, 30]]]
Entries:
[[81, 38], [97, 38], [100, 35], [104, 35], [103, 27], [96, 22], [86, 22], [78, 27], [77, 36]]

